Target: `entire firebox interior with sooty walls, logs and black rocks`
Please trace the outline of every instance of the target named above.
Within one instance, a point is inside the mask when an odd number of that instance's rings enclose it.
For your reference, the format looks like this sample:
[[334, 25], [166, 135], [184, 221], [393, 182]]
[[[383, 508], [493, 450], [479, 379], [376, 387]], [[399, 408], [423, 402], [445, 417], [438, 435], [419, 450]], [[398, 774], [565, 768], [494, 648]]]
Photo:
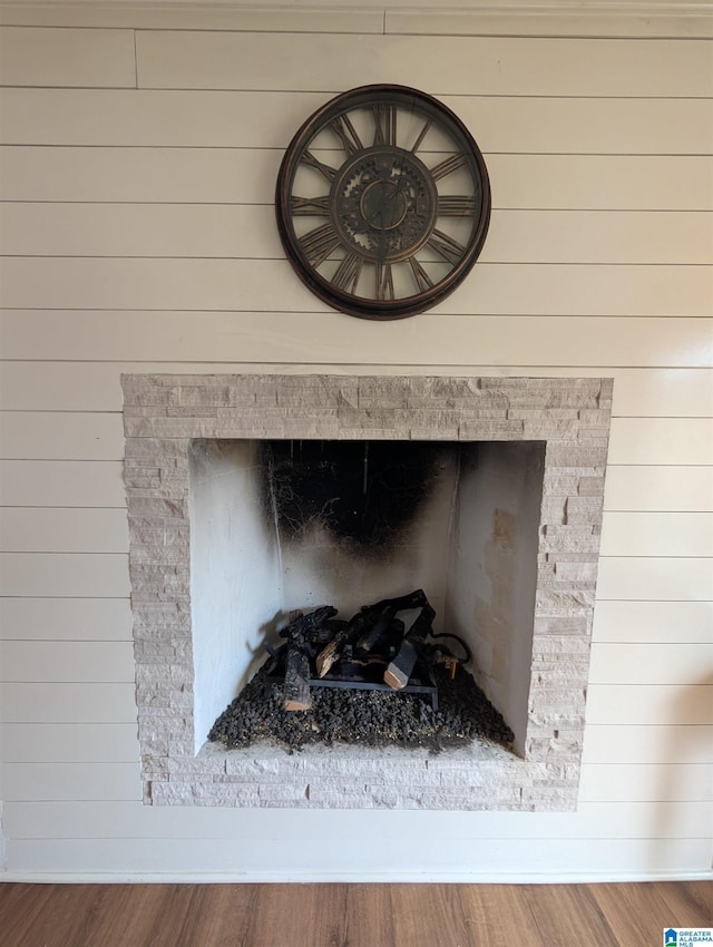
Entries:
[[196, 440], [196, 749], [521, 753], [541, 442]]

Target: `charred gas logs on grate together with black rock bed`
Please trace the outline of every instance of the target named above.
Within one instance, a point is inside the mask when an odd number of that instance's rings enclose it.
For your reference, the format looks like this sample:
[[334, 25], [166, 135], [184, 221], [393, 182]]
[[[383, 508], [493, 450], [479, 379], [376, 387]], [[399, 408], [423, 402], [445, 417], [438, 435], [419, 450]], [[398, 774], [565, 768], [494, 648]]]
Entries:
[[[417, 611], [407, 628], [401, 613]], [[273, 740], [428, 745], [477, 736], [505, 745], [512, 733], [462, 667], [470, 651], [433, 632], [422, 589], [363, 606], [348, 621], [331, 605], [292, 613], [265, 644], [267, 660], [216, 720], [208, 739], [227, 746]]]

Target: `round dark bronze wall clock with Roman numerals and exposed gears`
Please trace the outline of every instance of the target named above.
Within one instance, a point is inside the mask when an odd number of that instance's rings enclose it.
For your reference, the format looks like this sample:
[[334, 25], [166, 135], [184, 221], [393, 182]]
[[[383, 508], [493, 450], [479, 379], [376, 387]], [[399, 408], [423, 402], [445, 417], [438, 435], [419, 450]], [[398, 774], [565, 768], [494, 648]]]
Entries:
[[329, 305], [367, 319], [423, 312], [485, 243], [490, 185], [478, 146], [441, 102], [363, 86], [300, 128], [275, 197], [285, 253]]

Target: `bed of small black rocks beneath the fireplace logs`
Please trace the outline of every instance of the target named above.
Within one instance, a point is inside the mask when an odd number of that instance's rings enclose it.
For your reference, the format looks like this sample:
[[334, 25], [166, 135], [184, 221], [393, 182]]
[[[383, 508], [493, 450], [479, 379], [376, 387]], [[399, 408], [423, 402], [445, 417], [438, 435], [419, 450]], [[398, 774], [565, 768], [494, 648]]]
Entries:
[[258, 671], [218, 716], [208, 740], [227, 748], [268, 741], [289, 752], [311, 743], [428, 748], [434, 752], [480, 738], [510, 748], [512, 732], [460, 667], [453, 680], [437, 666], [439, 709], [428, 697], [384, 691], [312, 689], [312, 707], [285, 711], [280, 686]]

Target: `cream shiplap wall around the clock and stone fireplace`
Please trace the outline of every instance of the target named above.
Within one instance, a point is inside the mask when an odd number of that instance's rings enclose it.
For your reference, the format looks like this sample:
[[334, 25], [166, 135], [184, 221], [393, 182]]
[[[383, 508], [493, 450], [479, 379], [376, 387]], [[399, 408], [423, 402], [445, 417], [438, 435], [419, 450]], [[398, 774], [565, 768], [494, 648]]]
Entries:
[[[0, 8], [6, 877], [710, 872], [713, 30], [570, 6]], [[369, 81], [451, 106], [495, 205], [466, 284], [383, 325], [304, 290], [271, 209]], [[614, 377], [578, 812], [143, 807], [124, 371]]]

